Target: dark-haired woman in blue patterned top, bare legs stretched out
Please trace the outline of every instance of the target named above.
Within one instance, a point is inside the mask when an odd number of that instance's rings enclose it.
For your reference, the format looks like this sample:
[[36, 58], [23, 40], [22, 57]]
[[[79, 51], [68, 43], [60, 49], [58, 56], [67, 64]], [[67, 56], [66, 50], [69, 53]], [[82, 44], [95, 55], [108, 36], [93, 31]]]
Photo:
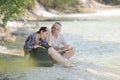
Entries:
[[42, 47], [48, 49], [48, 55], [55, 61], [62, 63], [64, 67], [74, 66], [71, 62], [62, 57], [53, 47], [49, 46], [46, 38], [49, 36], [49, 30], [47, 27], [41, 27], [39, 31], [30, 35], [25, 42], [25, 49], [31, 51], [34, 48]]

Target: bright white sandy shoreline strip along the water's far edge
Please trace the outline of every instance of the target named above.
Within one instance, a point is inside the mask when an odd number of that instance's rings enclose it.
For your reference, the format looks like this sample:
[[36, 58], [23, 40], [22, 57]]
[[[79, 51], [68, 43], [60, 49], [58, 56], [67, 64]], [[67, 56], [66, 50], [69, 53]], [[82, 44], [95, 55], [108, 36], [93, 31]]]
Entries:
[[[46, 14], [46, 13], [45, 13]], [[94, 13], [73, 13], [73, 14], [58, 14], [54, 16], [50, 15], [44, 15], [41, 17], [41, 19], [28, 19], [28, 22], [30, 21], [56, 21], [56, 20], [75, 20], [78, 18], [89, 18], [89, 17], [110, 17], [110, 16], [120, 16], [120, 9], [111, 9], [111, 10], [102, 10], [102, 11], [96, 11]], [[25, 26], [26, 22], [24, 20], [18, 20], [18, 21], [8, 21], [7, 27], [22, 27]], [[28, 27], [30, 27], [29, 24], [27, 24]]]

